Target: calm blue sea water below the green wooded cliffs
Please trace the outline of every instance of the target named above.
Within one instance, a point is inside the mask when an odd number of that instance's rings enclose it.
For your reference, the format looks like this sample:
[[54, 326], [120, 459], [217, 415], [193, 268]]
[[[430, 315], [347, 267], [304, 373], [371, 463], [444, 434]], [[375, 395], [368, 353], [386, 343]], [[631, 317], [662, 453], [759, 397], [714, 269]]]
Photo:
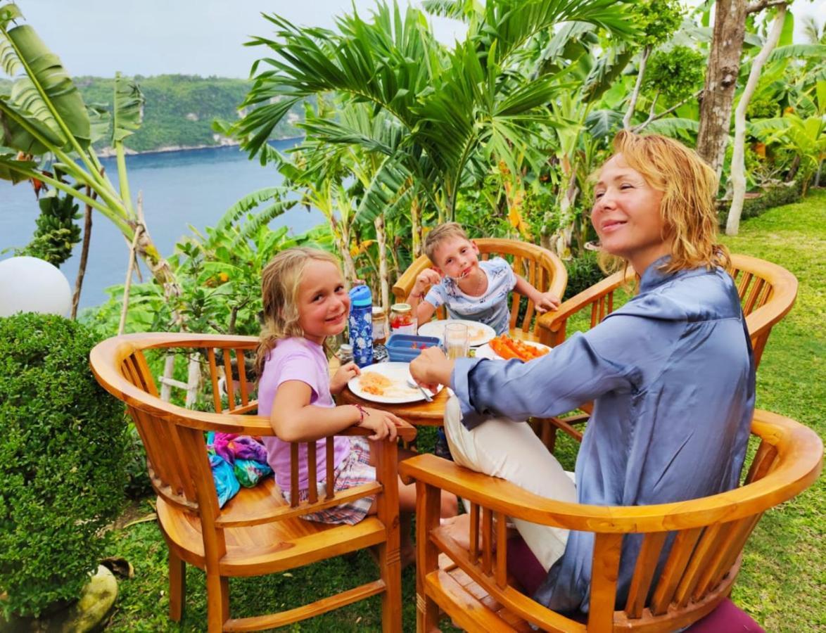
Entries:
[[[283, 150], [294, 143], [283, 140], [274, 146]], [[114, 158], [101, 162], [117, 186]], [[248, 160], [247, 155], [235, 147], [137, 154], [126, 158], [126, 166], [132, 196], [137, 196], [138, 191], [143, 192], [146, 224], [164, 257], [173, 253], [178, 239], [191, 234], [190, 224], [201, 231], [204, 227], [214, 226], [225, 210], [243, 196], [282, 182], [274, 168], [261, 167], [258, 161]], [[28, 182], [12, 187], [9, 182], [0, 180], [0, 252], [29, 243], [39, 214]], [[79, 222], [82, 226], [83, 220]], [[273, 220], [270, 227], [288, 226], [293, 234], [300, 234], [322, 222], [324, 216], [319, 211], [296, 207]], [[0, 260], [12, 256], [11, 252], [0, 253]], [[129, 245], [120, 231], [97, 210], [93, 211], [92, 241], [80, 296], [81, 308], [103, 303], [107, 300], [104, 289], [123, 283], [128, 258]], [[73, 257], [60, 267], [73, 289], [79, 259], [80, 244], [74, 248]], [[144, 279], [147, 279], [148, 273], [141, 268]]]

